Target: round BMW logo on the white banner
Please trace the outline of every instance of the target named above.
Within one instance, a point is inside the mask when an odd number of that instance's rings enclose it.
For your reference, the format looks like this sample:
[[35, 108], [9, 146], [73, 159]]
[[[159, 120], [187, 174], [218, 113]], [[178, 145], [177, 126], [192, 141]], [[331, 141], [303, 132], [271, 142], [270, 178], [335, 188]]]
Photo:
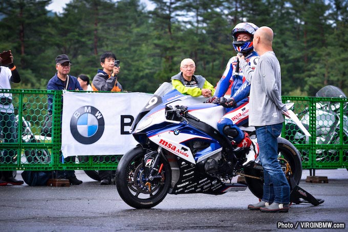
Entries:
[[74, 112], [70, 120], [70, 131], [77, 142], [93, 144], [103, 135], [103, 115], [93, 106], [82, 106]]

